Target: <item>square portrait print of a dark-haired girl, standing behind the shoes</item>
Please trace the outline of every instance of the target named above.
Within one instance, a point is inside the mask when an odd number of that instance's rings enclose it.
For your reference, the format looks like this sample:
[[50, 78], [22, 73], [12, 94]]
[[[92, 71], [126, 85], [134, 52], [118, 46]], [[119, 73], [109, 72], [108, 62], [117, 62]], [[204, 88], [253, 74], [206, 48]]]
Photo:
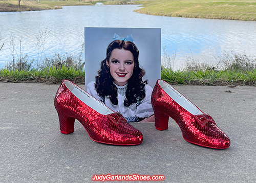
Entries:
[[154, 122], [151, 93], [160, 79], [161, 29], [84, 30], [88, 93], [127, 122]]

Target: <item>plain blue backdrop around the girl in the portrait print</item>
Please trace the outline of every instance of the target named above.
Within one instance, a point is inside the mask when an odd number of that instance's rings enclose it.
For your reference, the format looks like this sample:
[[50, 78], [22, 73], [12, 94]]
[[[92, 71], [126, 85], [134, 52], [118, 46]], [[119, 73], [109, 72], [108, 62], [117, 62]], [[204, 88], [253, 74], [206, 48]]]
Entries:
[[160, 28], [84, 28], [85, 84], [95, 81], [100, 63], [106, 58], [108, 45], [119, 37], [132, 36], [139, 50], [139, 65], [145, 70], [143, 80], [154, 87], [161, 77], [161, 29]]

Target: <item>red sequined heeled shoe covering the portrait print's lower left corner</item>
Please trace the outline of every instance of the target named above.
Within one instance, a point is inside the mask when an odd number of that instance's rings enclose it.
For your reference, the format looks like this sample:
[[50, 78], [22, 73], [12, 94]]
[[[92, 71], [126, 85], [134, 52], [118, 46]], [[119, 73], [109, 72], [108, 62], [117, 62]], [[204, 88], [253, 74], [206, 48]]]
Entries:
[[127, 123], [120, 113], [114, 112], [71, 81], [62, 81], [54, 106], [61, 133], [72, 133], [77, 119], [95, 142], [138, 145], [143, 141], [142, 133]]

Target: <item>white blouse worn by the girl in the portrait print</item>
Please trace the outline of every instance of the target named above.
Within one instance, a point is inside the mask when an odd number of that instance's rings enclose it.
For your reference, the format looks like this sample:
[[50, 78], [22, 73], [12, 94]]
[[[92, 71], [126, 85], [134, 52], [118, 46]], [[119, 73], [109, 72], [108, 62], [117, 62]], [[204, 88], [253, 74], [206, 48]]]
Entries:
[[115, 112], [118, 111], [119, 113], [122, 114], [122, 116], [127, 120], [127, 122], [136, 122], [136, 121], [141, 121], [143, 118], [148, 118], [152, 115], [154, 115], [154, 111], [151, 105], [151, 93], [153, 91], [152, 87], [150, 85], [145, 85], [145, 97], [140, 101], [139, 103], [133, 103], [129, 107], [125, 107], [123, 105], [124, 100], [126, 100], [125, 97], [125, 91], [127, 88], [127, 84], [124, 86], [118, 86], [117, 87], [117, 99], [118, 99], [118, 104], [114, 105], [110, 101], [109, 96], [105, 97], [105, 101], [102, 101], [102, 98], [97, 94], [97, 91], [95, 90], [94, 87], [95, 82], [91, 81], [87, 85], [87, 92], [91, 94], [94, 98], [97, 100], [104, 102], [106, 106], [114, 110]]

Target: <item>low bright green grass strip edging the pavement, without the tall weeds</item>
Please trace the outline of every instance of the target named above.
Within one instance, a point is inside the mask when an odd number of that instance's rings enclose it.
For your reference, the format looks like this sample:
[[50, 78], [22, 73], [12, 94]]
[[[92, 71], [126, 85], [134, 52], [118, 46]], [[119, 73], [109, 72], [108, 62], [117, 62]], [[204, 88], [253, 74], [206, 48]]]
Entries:
[[[60, 83], [68, 79], [77, 84], [84, 83], [84, 71], [75, 68], [55, 66], [41, 70], [18, 71], [0, 70], [0, 82], [33, 82], [33, 83]], [[161, 79], [170, 84], [182, 85], [242, 85], [256, 86], [256, 69], [252, 71], [173, 71], [170, 68], [163, 68]]]

